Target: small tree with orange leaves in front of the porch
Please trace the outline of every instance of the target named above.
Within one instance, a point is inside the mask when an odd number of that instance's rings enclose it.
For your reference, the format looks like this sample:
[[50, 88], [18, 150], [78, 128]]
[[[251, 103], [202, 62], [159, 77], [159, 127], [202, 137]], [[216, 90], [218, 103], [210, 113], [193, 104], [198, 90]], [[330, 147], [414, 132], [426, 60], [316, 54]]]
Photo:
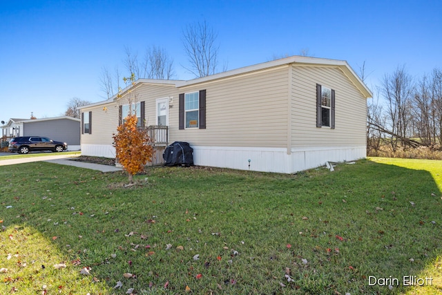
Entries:
[[[128, 79], [135, 85], [135, 75]], [[127, 78], [124, 79], [126, 81]], [[131, 105], [131, 99], [128, 98], [128, 102]], [[153, 155], [153, 147], [149, 144], [151, 139], [145, 129], [137, 126], [137, 121], [137, 116], [131, 110], [123, 124], [117, 127], [117, 134], [113, 134], [117, 161], [127, 171], [129, 183], [133, 183], [133, 175], [144, 171], [144, 166], [152, 160]]]

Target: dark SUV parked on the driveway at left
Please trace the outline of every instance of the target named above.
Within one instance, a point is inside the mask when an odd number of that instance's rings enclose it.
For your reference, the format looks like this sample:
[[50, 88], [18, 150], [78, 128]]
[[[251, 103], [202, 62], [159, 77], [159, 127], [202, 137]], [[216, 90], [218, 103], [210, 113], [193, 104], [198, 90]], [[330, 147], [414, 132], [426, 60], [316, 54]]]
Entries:
[[9, 142], [10, 152], [29, 153], [30, 151], [64, 151], [68, 149], [66, 142], [56, 142], [48, 137], [22, 136], [15, 137]]

